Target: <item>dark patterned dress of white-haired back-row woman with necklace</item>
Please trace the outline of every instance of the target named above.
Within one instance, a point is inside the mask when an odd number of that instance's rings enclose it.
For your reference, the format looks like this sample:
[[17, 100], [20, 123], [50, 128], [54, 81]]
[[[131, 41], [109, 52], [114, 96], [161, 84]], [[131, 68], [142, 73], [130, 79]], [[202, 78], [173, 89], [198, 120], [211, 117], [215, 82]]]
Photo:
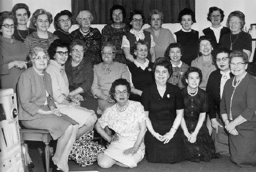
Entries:
[[71, 32], [73, 40], [80, 39], [86, 44], [86, 51], [84, 52], [84, 59], [90, 61], [92, 65], [97, 65], [102, 62], [102, 56], [100, 55], [101, 38], [100, 30], [98, 28], [90, 28], [90, 32], [83, 35], [80, 32], [80, 28]]

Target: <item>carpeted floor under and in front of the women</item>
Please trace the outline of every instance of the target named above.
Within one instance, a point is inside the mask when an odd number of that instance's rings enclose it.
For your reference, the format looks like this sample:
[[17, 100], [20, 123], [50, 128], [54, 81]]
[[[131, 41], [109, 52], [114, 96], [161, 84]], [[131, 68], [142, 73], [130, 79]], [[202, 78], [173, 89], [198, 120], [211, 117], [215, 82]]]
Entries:
[[[34, 142], [35, 143], [35, 142]], [[34, 165], [36, 166], [33, 170], [34, 172], [44, 172], [42, 158], [38, 154], [37, 146], [30, 142], [29, 144], [29, 152], [32, 160], [34, 161]], [[100, 171], [100, 172], [147, 172], [147, 171], [157, 171], [157, 172], [198, 172], [198, 171], [234, 171], [234, 172], [255, 172], [256, 167], [242, 169], [237, 167], [234, 163], [229, 160], [228, 156], [223, 156], [220, 159], [211, 159], [210, 162], [193, 163], [190, 161], [183, 161], [176, 164], [166, 164], [166, 163], [148, 163], [144, 158], [137, 167], [133, 169], [127, 169], [123, 167], [119, 167], [118, 165], [113, 165], [110, 169], [102, 169], [95, 162], [94, 165], [87, 167], [80, 167], [74, 161], [69, 161], [69, 169], [70, 171]], [[51, 171], [51, 169], [50, 169]]]

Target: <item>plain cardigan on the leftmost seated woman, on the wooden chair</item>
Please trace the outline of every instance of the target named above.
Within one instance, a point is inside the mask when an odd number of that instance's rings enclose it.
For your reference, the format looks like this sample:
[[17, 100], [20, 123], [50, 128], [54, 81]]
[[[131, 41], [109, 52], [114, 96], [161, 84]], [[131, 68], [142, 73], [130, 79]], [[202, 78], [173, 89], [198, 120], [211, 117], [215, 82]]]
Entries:
[[56, 107], [52, 98], [51, 76], [44, 71], [44, 75], [38, 74], [33, 67], [24, 71], [18, 80], [18, 98], [20, 105], [18, 107], [18, 120], [32, 120], [41, 118], [37, 113], [39, 109], [45, 109], [46, 91], [48, 106]]

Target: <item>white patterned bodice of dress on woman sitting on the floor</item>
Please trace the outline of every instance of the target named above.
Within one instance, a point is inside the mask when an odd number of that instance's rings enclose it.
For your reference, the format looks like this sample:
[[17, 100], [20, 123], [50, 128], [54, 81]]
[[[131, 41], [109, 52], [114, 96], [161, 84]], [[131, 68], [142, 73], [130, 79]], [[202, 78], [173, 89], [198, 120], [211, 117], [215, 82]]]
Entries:
[[140, 132], [139, 123], [144, 121], [144, 107], [138, 101], [129, 100], [129, 105], [125, 111], [118, 111], [117, 103], [106, 109], [102, 117], [98, 119], [102, 129], [109, 127], [118, 136], [126, 137], [127, 140], [135, 141]]

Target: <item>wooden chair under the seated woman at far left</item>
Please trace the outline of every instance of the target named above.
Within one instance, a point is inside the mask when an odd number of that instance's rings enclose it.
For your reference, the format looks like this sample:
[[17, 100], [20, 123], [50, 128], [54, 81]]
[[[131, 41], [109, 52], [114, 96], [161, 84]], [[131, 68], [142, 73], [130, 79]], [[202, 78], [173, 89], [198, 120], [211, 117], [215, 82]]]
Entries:
[[34, 130], [34, 129], [20, 129], [20, 143], [22, 152], [24, 155], [23, 166], [25, 171], [28, 171], [27, 162], [26, 162], [26, 153], [24, 140], [30, 141], [40, 141], [46, 144], [45, 152], [46, 152], [46, 172], [49, 172], [49, 141], [51, 140], [51, 135], [48, 130]]

